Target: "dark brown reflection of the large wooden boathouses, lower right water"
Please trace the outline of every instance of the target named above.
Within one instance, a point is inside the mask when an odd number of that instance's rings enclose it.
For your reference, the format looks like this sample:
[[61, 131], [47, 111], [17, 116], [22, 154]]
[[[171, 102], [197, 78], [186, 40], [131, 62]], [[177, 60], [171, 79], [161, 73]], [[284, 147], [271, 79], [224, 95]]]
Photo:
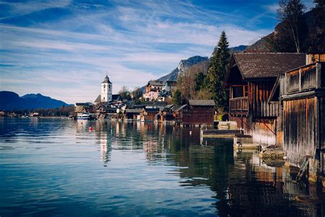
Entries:
[[230, 170], [229, 176], [234, 177], [228, 184], [232, 214], [320, 216], [324, 209], [320, 203], [306, 206], [297, 202], [297, 196], [311, 195], [308, 188], [293, 181], [283, 165], [267, 166], [256, 153], [234, 152], [233, 170]]

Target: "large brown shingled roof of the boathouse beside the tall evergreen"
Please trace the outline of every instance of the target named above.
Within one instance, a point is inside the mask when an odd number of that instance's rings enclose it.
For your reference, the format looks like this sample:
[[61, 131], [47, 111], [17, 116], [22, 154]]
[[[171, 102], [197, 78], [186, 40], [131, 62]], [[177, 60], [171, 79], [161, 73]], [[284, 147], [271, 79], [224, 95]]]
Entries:
[[233, 58], [243, 79], [277, 77], [306, 64], [306, 54], [298, 53], [235, 53]]

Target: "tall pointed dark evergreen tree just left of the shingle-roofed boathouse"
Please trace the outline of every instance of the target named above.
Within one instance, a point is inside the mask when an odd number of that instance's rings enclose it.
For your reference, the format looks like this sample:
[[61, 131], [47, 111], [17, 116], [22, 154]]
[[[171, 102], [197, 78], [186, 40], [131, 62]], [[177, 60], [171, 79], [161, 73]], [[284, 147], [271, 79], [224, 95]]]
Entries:
[[213, 93], [213, 99], [218, 108], [228, 109], [228, 93], [223, 88], [224, 77], [226, 75], [228, 63], [230, 60], [229, 43], [226, 32], [222, 31], [219, 42], [213, 50], [208, 67], [208, 89]]

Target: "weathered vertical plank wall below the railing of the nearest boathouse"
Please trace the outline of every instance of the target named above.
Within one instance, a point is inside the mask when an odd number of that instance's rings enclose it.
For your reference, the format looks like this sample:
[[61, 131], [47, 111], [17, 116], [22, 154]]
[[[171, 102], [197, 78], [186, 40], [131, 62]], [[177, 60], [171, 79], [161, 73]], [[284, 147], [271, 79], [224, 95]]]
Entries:
[[304, 98], [283, 102], [284, 150], [291, 165], [300, 167], [304, 156], [315, 155], [316, 101]]

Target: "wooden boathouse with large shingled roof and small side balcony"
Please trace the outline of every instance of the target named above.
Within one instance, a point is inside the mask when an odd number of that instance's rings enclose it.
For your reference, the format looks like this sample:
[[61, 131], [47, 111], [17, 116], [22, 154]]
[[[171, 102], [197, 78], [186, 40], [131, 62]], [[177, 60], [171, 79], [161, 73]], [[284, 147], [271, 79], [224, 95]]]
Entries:
[[230, 89], [230, 121], [261, 146], [282, 143], [279, 103], [267, 103], [281, 73], [305, 65], [305, 54], [234, 53], [224, 87]]

